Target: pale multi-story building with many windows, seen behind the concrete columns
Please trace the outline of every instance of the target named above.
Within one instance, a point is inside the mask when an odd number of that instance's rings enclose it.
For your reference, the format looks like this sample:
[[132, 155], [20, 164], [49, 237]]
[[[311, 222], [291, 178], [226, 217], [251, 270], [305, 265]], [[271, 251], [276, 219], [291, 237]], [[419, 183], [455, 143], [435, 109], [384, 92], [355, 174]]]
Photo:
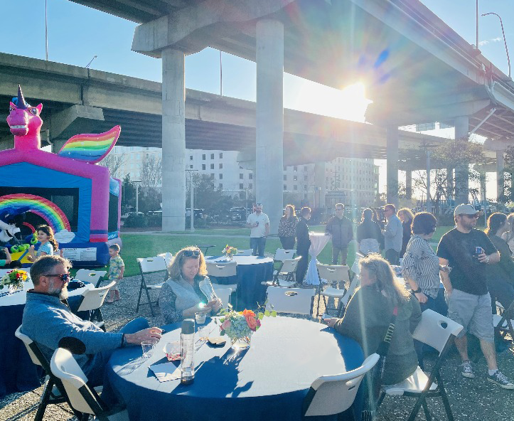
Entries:
[[[132, 180], [141, 178], [141, 168], [147, 159], [161, 158], [160, 148], [115, 146], [113, 159], [121, 161], [118, 177], [130, 174]], [[214, 186], [232, 196], [244, 197], [248, 191], [255, 195], [255, 172], [237, 163], [237, 151], [187, 149], [186, 169], [213, 178]], [[321, 166], [321, 171], [323, 166]], [[318, 170], [320, 171], [320, 170]], [[325, 164], [325, 186], [315, 182], [315, 164], [284, 167], [284, 192], [298, 202], [310, 206], [333, 208], [338, 201], [355, 206], [371, 206], [378, 196], [378, 166], [373, 159], [336, 158]], [[319, 179], [319, 178], [318, 178]], [[316, 192], [324, 190], [326, 198]], [[333, 202], [333, 203], [332, 203]]]

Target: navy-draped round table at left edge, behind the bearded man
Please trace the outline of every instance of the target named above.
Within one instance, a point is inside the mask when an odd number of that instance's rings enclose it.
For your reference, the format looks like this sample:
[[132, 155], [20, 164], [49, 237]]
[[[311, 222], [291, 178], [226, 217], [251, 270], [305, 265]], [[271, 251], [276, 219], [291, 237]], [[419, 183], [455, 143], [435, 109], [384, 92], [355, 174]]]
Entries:
[[[26, 291], [32, 287], [32, 282], [28, 281], [23, 284], [23, 291], [0, 297], [0, 398], [13, 392], [33, 390], [41, 385], [38, 366], [28, 356], [23, 342], [14, 336], [21, 325]], [[85, 287], [70, 291], [70, 302], [73, 302], [73, 297], [79, 299], [77, 296], [92, 287], [93, 284], [86, 284]], [[0, 294], [5, 291], [5, 287], [0, 289]]]

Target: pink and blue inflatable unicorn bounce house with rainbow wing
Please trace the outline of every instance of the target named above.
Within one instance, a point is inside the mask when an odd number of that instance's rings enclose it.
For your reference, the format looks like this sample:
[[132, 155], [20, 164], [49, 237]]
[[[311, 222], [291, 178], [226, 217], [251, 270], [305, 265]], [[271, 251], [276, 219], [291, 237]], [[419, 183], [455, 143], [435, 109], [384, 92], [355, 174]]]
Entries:
[[109, 245], [121, 245], [121, 181], [95, 164], [109, 154], [121, 127], [77, 134], [53, 154], [41, 149], [42, 108], [28, 105], [18, 86], [7, 117], [14, 149], [0, 151], [0, 250], [14, 246], [18, 259], [36, 241], [34, 229], [46, 224], [75, 267], [106, 265]]

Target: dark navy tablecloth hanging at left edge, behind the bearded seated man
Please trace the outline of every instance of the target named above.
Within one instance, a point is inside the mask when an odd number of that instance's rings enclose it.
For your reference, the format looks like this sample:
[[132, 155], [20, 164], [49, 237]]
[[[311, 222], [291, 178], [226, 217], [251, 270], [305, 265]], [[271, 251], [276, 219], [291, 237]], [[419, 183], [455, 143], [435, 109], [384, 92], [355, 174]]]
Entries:
[[[80, 299], [82, 296], [70, 297], [70, 307], [78, 307]], [[0, 306], [0, 398], [41, 386], [43, 371], [32, 362], [23, 342], [14, 336], [21, 325], [24, 308], [24, 299], [23, 304]]]

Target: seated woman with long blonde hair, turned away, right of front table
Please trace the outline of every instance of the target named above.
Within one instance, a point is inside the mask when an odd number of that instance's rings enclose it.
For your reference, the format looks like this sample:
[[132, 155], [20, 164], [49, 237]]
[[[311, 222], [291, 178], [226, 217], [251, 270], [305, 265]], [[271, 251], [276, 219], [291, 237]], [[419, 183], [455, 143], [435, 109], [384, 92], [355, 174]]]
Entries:
[[394, 385], [417, 369], [412, 331], [421, 319], [419, 303], [380, 255], [361, 259], [359, 266], [360, 288], [348, 302], [343, 319], [326, 319], [326, 323], [358, 341], [369, 356], [378, 350], [396, 309], [395, 331], [381, 379], [382, 385]]

